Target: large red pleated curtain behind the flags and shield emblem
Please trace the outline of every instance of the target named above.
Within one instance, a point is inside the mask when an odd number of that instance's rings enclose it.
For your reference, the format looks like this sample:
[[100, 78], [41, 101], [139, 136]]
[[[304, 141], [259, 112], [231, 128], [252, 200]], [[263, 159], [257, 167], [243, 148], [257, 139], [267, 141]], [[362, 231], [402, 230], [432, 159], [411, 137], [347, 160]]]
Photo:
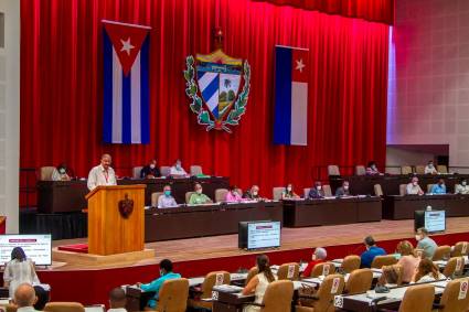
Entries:
[[[102, 143], [102, 19], [152, 26], [151, 133], [147, 146]], [[206, 132], [184, 94], [185, 56], [224, 51], [247, 58], [252, 90], [234, 133]], [[308, 147], [273, 141], [274, 46], [309, 47]], [[315, 165], [383, 163], [388, 26], [249, 0], [22, 0], [21, 166], [66, 161], [79, 176], [114, 157], [117, 174], [152, 157], [181, 158], [241, 187], [309, 186]]]

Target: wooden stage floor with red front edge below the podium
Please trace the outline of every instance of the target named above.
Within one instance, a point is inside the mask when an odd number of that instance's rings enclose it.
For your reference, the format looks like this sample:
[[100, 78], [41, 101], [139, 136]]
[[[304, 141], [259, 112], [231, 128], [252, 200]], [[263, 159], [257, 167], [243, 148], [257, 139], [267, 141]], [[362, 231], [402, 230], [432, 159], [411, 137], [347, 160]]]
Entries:
[[[438, 245], [469, 241], [469, 217], [447, 219], [447, 233], [434, 235]], [[201, 237], [146, 244], [154, 258], [121, 263], [75, 263], [54, 261], [53, 266], [40, 269], [41, 282], [52, 286], [54, 301], [79, 301], [85, 304], [107, 302], [108, 291], [114, 287], [136, 282], [149, 282], [158, 277], [158, 262], [169, 258], [174, 271], [185, 278], [201, 277], [210, 271], [235, 272], [255, 265], [256, 256], [268, 254], [273, 265], [309, 260], [312, 247], [326, 247], [328, 258], [360, 255], [364, 250], [363, 238], [373, 235], [380, 247], [394, 252], [397, 243], [409, 239], [415, 244], [413, 220], [382, 220], [351, 225], [284, 228], [281, 248], [262, 251], [245, 251], [237, 248], [237, 235]], [[83, 244], [86, 239], [57, 240], [54, 248], [63, 245]]]

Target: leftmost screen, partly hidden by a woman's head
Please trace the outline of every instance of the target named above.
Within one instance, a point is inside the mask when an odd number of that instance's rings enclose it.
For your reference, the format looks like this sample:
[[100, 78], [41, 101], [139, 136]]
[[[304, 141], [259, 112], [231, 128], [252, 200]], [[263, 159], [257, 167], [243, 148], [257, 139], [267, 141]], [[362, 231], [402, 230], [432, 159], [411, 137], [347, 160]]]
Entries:
[[21, 247], [36, 266], [52, 265], [51, 234], [0, 235], [0, 265], [11, 260], [11, 250]]

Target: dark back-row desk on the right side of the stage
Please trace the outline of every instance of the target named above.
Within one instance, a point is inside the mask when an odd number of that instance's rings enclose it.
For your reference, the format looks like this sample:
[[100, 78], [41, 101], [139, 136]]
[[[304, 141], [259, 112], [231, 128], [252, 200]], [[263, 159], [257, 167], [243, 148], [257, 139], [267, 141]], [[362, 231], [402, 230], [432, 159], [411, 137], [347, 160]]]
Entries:
[[418, 184], [424, 191], [427, 190], [428, 184], [435, 184], [439, 179], [445, 179], [449, 192], [455, 191], [455, 184], [458, 184], [461, 177], [469, 180], [469, 174], [385, 174], [330, 176], [329, 183], [333, 192], [342, 185], [343, 181], [349, 181], [351, 194], [374, 194], [374, 185], [380, 184], [384, 195], [399, 195], [399, 185], [408, 184], [413, 176], [418, 177]]

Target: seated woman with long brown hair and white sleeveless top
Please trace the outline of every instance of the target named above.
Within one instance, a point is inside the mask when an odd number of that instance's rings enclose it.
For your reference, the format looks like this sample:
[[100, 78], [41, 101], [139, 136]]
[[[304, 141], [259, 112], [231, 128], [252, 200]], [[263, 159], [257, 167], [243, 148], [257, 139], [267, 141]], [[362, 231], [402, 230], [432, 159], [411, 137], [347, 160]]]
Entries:
[[[266, 293], [267, 287], [269, 283], [277, 279], [276, 276], [270, 270], [269, 259], [266, 255], [260, 255], [257, 257], [257, 269], [258, 273], [246, 284], [243, 289], [243, 294], [256, 295], [254, 303], [263, 303], [264, 294]], [[255, 312], [260, 311], [260, 306], [247, 305], [243, 309], [243, 312]]]

